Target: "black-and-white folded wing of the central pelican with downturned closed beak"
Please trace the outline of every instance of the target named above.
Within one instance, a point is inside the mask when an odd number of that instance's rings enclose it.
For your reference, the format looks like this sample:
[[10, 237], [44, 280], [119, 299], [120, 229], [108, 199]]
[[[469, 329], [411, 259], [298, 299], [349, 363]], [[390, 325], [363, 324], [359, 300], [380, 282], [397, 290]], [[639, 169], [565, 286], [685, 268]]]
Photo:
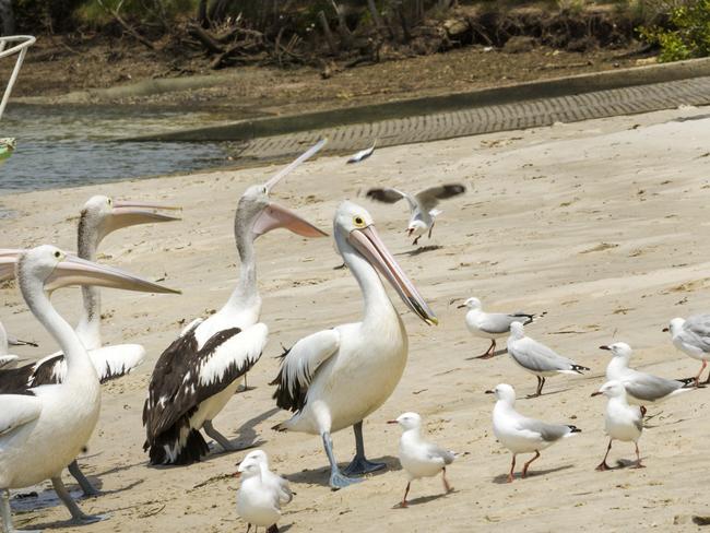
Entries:
[[276, 405], [293, 412], [306, 404], [308, 386], [320, 365], [328, 360], [340, 347], [340, 333], [324, 330], [308, 335], [282, 355], [279, 376], [271, 384], [277, 386], [273, 394]]

